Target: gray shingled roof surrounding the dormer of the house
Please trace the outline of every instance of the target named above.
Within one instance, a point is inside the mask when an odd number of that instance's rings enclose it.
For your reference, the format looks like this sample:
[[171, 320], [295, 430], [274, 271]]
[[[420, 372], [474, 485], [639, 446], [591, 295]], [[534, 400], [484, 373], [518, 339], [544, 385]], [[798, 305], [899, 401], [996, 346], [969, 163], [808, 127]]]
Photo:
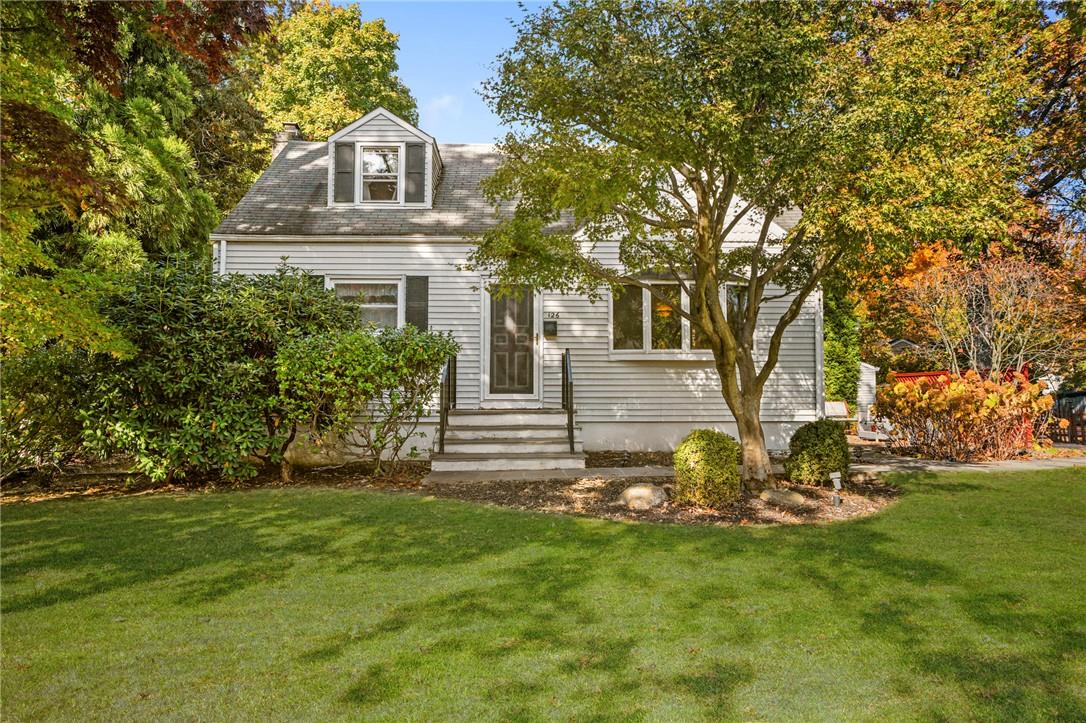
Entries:
[[432, 208], [328, 206], [328, 144], [291, 141], [214, 233], [464, 236], [498, 218], [479, 191], [497, 168], [493, 145], [439, 144], [444, 164]]

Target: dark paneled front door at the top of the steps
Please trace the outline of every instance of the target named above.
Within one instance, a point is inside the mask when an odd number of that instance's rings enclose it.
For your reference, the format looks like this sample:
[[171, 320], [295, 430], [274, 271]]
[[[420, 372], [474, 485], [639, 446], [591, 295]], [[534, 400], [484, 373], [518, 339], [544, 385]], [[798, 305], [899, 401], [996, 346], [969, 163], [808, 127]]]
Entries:
[[535, 303], [531, 289], [490, 299], [490, 393], [534, 391]]

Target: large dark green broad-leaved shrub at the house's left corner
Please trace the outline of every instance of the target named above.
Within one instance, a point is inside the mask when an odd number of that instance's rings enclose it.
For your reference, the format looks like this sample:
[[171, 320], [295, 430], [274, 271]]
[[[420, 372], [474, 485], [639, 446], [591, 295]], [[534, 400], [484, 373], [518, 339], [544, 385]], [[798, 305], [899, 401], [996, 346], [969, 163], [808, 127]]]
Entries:
[[220, 278], [192, 259], [141, 269], [108, 314], [136, 352], [91, 362], [84, 439], [99, 455], [130, 455], [155, 480], [240, 478], [256, 459], [281, 459], [293, 424], [278, 401], [280, 345], [359, 324], [301, 271]]

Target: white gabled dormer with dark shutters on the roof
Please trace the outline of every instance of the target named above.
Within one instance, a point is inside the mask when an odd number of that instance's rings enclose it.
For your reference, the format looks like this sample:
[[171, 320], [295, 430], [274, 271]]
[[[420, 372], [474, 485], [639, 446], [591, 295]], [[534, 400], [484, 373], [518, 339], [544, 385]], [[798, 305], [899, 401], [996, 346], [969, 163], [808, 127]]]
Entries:
[[383, 107], [328, 139], [328, 205], [429, 208], [441, 178], [433, 138]]

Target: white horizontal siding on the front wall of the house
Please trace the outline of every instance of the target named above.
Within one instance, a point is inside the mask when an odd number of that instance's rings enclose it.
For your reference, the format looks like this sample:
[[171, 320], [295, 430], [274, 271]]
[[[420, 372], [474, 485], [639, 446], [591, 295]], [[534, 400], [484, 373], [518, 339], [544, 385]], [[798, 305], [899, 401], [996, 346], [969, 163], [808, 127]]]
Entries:
[[[617, 261], [617, 243], [597, 250]], [[460, 344], [457, 404], [476, 408], [481, 391], [482, 280], [457, 270], [471, 244], [428, 241], [238, 241], [228, 245], [226, 271], [270, 274], [288, 263], [313, 274], [342, 279], [402, 279], [429, 277], [429, 321], [435, 331], [449, 331]], [[614, 263], [614, 261], [613, 261]], [[773, 293], [770, 291], [770, 293]], [[788, 299], [774, 301], [763, 312], [756, 348], [768, 346], [772, 322]], [[762, 419], [803, 422], [818, 418], [817, 356], [818, 296], [812, 294], [788, 328], [778, 367], [762, 402]], [[724, 424], [731, 415], [720, 395], [720, 380], [704, 352], [671, 356], [619, 358], [611, 352], [610, 297], [591, 302], [584, 296], [542, 294], [544, 318], [558, 314], [558, 335], [543, 341], [543, 399], [561, 404], [561, 354], [572, 352], [574, 402], [579, 422], [693, 422]]]

